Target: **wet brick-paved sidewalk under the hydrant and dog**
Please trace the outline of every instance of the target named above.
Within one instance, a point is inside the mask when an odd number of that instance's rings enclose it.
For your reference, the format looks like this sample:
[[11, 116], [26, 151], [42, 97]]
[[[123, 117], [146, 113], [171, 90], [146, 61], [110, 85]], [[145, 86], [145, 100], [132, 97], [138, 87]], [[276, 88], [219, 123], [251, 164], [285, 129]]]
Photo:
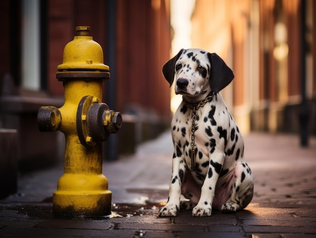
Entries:
[[157, 217], [168, 198], [172, 154], [168, 131], [135, 155], [103, 164], [112, 211], [122, 216], [112, 219], [52, 214], [51, 196], [63, 165], [21, 176], [19, 192], [0, 200], [0, 237], [316, 237], [315, 137], [300, 148], [296, 135], [246, 135], [253, 200], [236, 214], [213, 211], [206, 218], [190, 211]]

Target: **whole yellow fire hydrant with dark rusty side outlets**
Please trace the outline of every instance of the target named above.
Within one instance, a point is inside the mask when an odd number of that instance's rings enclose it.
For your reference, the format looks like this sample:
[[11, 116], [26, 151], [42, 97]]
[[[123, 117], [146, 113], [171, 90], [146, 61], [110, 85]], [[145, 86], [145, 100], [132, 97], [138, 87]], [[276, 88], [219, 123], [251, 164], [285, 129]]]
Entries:
[[53, 194], [53, 211], [70, 216], [110, 215], [112, 193], [102, 174], [102, 145], [122, 125], [119, 112], [101, 103], [102, 82], [110, 78], [103, 64], [101, 46], [88, 32], [76, 27], [77, 35], [64, 49], [63, 64], [56, 77], [63, 81], [65, 103], [61, 108], [41, 107], [40, 131], [65, 134], [65, 171]]

